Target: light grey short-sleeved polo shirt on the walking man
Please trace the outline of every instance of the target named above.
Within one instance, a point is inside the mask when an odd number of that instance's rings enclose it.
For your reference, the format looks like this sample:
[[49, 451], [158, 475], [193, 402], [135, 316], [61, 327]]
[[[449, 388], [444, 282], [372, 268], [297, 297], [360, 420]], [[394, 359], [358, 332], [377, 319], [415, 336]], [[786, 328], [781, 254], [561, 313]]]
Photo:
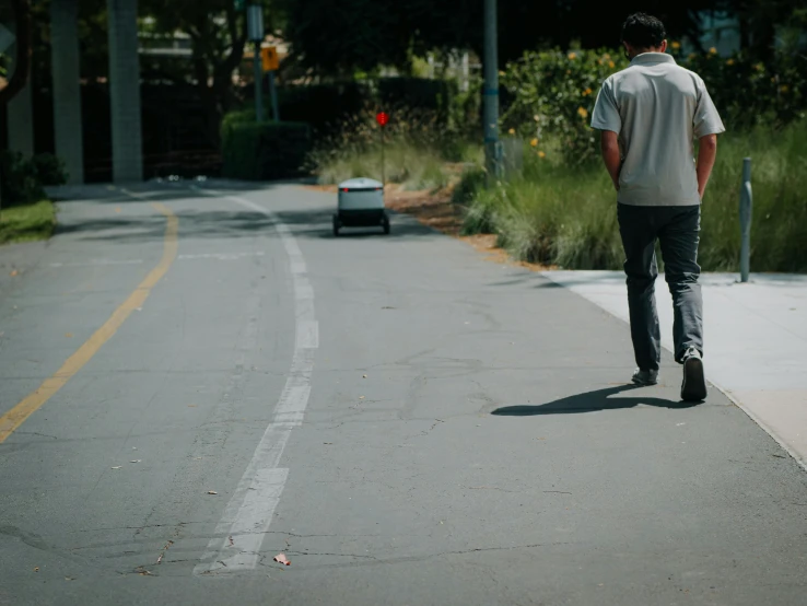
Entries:
[[664, 53], [644, 53], [604, 83], [592, 128], [619, 135], [618, 200], [632, 206], [701, 203], [694, 138], [725, 128], [703, 80]]

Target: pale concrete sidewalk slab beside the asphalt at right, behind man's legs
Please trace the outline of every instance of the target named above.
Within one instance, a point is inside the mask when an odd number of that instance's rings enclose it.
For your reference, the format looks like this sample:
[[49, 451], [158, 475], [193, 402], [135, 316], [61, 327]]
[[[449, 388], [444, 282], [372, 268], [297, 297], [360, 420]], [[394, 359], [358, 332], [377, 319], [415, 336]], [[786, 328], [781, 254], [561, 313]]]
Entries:
[[[543, 276], [628, 322], [621, 271], [546, 271]], [[706, 376], [807, 468], [807, 276], [710, 273], [701, 278]], [[672, 349], [672, 301], [656, 282], [662, 342]], [[664, 383], [680, 380], [663, 368]]]

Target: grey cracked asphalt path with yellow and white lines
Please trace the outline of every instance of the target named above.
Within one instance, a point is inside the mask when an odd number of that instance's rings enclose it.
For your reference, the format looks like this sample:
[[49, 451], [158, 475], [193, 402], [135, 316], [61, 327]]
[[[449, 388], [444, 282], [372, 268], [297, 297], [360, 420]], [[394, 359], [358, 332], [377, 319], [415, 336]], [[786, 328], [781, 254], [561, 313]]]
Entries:
[[807, 475], [669, 356], [628, 387], [622, 322], [407, 217], [217, 191], [0, 249], [0, 605], [805, 604]]

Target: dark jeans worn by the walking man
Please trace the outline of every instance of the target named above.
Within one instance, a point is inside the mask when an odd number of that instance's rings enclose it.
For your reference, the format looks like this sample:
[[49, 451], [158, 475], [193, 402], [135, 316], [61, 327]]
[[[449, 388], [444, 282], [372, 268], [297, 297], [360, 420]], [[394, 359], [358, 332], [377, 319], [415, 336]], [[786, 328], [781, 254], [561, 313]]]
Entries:
[[703, 300], [698, 283], [701, 207], [617, 206], [636, 365], [658, 370], [662, 360], [655, 296], [656, 240], [662, 246], [665, 277], [672, 294], [676, 361], [680, 363], [690, 347], [703, 354]]

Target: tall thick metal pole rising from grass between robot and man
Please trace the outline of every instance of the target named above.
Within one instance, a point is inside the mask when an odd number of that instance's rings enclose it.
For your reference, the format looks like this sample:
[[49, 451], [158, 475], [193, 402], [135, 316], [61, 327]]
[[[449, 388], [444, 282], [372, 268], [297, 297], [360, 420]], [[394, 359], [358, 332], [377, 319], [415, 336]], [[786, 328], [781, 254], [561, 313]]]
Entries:
[[484, 0], [484, 160], [488, 184], [501, 177], [496, 0]]

